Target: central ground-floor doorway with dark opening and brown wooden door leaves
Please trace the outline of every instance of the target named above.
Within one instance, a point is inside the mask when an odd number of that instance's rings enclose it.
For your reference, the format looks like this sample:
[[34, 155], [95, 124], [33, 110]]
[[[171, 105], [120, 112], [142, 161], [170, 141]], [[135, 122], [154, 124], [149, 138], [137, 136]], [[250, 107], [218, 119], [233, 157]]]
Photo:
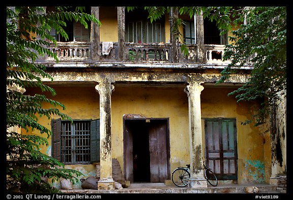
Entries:
[[124, 176], [130, 182], [170, 179], [168, 119], [124, 119]]

